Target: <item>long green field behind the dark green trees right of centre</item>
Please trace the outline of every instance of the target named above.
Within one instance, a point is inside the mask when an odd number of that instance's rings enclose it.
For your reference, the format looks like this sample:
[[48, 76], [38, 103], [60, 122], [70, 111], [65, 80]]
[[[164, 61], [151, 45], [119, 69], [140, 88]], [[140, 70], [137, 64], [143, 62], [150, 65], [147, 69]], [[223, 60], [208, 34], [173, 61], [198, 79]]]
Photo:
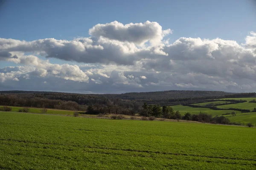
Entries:
[[[212, 116], [220, 116], [222, 114], [232, 112], [231, 110], [215, 111], [215, 110], [212, 110], [212, 109], [209, 109], [209, 108], [192, 108], [192, 107], [183, 106], [183, 105], [174, 105], [174, 106], [171, 106], [171, 107], [174, 109], [174, 111], [179, 111], [181, 115], [184, 115], [186, 112], [189, 112], [191, 114], [198, 114], [201, 111], [201, 112], [211, 114]], [[241, 112], [236, 111], [236, 113], [241, 113]]]

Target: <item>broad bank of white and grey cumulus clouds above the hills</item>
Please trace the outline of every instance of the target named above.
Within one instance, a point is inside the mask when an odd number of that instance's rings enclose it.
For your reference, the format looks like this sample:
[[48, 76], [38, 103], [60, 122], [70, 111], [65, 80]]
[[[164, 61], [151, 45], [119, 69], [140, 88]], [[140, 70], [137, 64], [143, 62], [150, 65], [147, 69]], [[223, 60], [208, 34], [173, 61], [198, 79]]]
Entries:
[[[70, 41], [0, 38], [0, 61], [23, 65], [1, 68], [0, 85], [70, 91], [68, 84], [81, 93], [256, 90], [255, 32], [245, 37], [244, 44], [199, 37], [181, 37], [169, 44], [165, 36], [171, 33], [156, 22], [114, 21], [93, 26], [92, 37]], [[49, 58], [81, 65], [52, 64]]]

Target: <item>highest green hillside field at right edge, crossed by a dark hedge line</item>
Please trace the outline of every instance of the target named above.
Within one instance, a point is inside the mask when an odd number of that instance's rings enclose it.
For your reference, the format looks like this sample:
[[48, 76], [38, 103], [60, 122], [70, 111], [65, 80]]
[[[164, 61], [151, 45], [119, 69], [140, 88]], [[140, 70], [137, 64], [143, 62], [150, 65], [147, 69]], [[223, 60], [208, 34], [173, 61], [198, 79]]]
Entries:
[[217, 108], [239, 108], [239, 109], [249, 109], [250, 111], [253, 111], [254, 108], [256, 108], [256, 103], [249, 103], [253, 99], [256, 99], [256, 97], [247, 97], [247, 98], [227, 98], [227, 99], [235, 99], [235, 100], [247, 100], [247, 102], [244, 103], [236, 103], [231, 105], [221, 105], [217, 106]]

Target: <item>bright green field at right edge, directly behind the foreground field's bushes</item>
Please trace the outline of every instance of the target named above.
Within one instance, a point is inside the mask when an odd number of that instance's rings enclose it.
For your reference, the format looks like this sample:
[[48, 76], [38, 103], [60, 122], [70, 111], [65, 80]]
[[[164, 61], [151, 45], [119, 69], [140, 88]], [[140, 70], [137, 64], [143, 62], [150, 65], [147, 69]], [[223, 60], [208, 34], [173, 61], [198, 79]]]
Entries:
[[256, 112], [250, 112], [250, 113], [240, 113], [236, 114], [236, 116], [230, 116], [230, 115], [225, 115], [230, 122], [241, 122], [246, 125], [246, 123], [253, 123], [253, 125], [256, 125]]

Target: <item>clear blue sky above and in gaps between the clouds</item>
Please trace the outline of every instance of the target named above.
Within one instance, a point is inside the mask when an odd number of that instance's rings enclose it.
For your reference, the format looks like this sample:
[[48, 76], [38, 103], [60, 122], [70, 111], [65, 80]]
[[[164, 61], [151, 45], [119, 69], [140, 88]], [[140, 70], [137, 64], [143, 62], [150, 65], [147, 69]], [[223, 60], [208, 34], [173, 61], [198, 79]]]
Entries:
[[[245, 37], [251, 31], [256, 31], [256, 3], [254, 0], [7, 0], [0, 6], [0, 38], [27, 42], [46, 38], [70, 41], [90, 37], [90, 28], [115, 20], [124, 25], [147, 20], [157, 22], [162, 30], [172, 30], [172, 34], [165, 37], [169, 43], [180, 37], [202, 40], [219, 37], [241, 45], [248, 42]], [[25, 54], [33, 53], [25, 51]], [[44, 56], [36, 56], [45, 60]], [[59, 65], [87, 64], [76, 59], [47, 59]], [[0, 61], [0, 68], [16, 65], [26, 66], [23, 62]]]

